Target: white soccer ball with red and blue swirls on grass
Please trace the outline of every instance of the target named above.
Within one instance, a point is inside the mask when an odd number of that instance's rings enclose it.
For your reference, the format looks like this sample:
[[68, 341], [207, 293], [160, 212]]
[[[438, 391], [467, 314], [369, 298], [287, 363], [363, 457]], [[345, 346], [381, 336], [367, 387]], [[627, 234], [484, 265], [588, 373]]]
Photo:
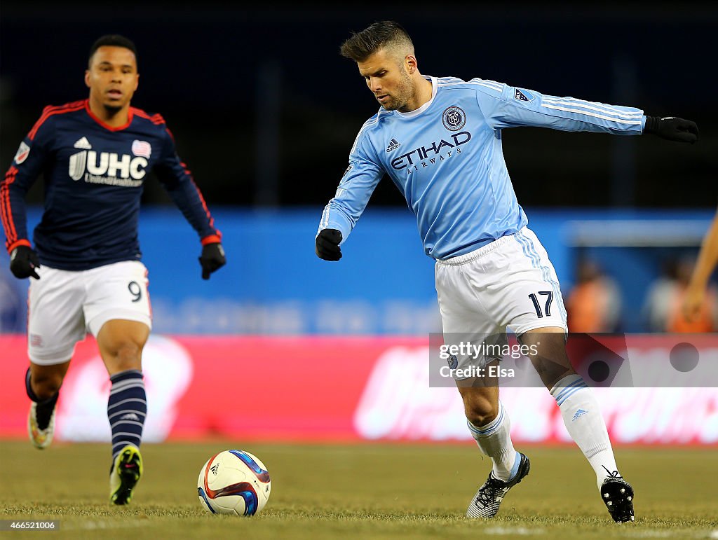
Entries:
[[271, 481], [264, 463], [243, 450], [225, 450], [210, 458], [197, 478], [202, 508], [212, 513], [253, 516], [269, 499]]

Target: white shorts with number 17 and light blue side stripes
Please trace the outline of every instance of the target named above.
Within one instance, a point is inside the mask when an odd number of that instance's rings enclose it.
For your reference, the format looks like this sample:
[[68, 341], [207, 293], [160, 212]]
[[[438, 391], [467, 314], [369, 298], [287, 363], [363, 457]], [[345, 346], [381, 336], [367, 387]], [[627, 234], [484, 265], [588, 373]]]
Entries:
[[[517, 336], [549, 326], [568, 331], [556, 270], [528, 227], [465, 255], [437, 260], [434, 277], [444, 344], [482, 341], [492, 346], [482, 350], [495, 351], [506, 344], [507, 328]], [[500, 359], [456, 356], [452, 369], [459, 370]]]

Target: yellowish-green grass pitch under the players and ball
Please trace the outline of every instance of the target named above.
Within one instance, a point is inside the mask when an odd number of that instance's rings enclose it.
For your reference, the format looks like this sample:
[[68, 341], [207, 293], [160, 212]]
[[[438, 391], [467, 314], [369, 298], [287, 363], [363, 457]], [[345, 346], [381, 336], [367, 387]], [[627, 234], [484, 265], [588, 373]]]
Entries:
[[[272, 493], [253, 518], [213, 516], [197, 499], [197, 475], [220, 450], [264, 461]], [[70, 538], [429, 539], [718, 538], [718, 452], [619, 448], [635, 488], [636, 521], [610, 520], [595, 476], [576, 447], [519, 446], [531, 473], [496, 518], [464, 511], [490, 468], [469, 444], [292, 445], [241, 441], [144, 445], [144, 477], [130, 506], [107, 502], [109, 445], [0, 441], [0, 519], [57, 519]], [[47, 535], [47, 536], [45, 536]]]

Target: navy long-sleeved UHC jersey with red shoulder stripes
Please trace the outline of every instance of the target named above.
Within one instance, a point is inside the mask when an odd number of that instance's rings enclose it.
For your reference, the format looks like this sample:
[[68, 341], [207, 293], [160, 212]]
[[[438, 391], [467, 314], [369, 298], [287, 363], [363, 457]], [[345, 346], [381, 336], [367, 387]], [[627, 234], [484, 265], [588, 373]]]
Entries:
[[8, 252], [30, 245], [24, 198], [44, 174], [45, 211], [33, 235], [42, 265], [88, 270], [139, 260], [139, 207], [150, 170], [202, 244], [219, 242], [220, 232], [162, 116], [133, 107], [126, 125], [113, 128], [93, 115], [88, 100], [46, 107], [0, 181]]

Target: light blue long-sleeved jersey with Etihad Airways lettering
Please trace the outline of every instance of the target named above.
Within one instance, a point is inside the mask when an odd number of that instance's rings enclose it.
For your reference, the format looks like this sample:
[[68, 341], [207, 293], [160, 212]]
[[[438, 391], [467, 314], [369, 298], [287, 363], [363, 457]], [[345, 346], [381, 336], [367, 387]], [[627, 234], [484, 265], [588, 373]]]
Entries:
[[406, 197], [434, 259], [476, 250], [528, 223], [503, 158], [516, 126], [640, 135], [643, 111], [556, 98], [491, 80], [426, 77], [432, 98], [410, 113], [380, 108], [358, 133], [321, 229], [347, 239], [386, 173]]

